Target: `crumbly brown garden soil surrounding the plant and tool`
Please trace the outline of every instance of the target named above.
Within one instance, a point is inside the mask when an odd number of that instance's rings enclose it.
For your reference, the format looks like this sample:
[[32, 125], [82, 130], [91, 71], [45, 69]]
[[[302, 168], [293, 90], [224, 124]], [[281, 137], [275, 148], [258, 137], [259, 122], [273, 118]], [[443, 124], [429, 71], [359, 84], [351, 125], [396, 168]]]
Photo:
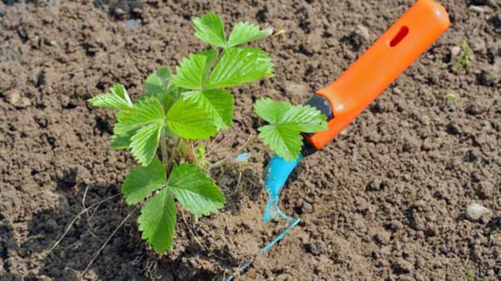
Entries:
[[[465, 259], [475, 275], [501, 279], [501, 3], [442, 2], [449, 30], [347, 131], [303, 160], [281, 202], [303, 221], [241, 279], [462, 280]], [[233, 90], [235, 126], [212, 140], [215, 161], [256, 132], [256, 98], [306, 101], [411, 4], [0, 1], [0, 280], [79, 279], [131, 211], [115, 197], [48, 251], [82, 210], [84, 190], [86, 205], [117, 194], [134, 165], [129, 153], [108, 146], [112, 112], [85, 100], [114, 82], [137, 95], [147, 73], [201, 49], [190, 16], [213, 9], [226, 22], [287, 30], [259, 43], [276, 77]], [[139, 28], [127, 30], [128, 19]], [[454, 73], [442, 65], [462, 41], [475, 60]], [[457, 95], [450, 107], [448, 92]], [[229, 197], [225, 211], [194, 227], [179, 218], [175, 247], [161, 258], [131, 218], [85, 279], [211, 279], [257, 253], [284, 225], [265, 227], [261, 218], [270, 153], [260, 141], [245, 150], [253, 155], [247, 165], [213, 171]], [[475, 201], [491, 209], [490, 219], [464, 219]]]

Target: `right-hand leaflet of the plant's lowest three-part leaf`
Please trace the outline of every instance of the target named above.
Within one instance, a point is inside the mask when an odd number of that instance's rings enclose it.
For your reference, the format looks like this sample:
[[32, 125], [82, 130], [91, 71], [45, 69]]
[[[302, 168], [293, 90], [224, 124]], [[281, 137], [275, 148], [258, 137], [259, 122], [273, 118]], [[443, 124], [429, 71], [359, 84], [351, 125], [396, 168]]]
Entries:
[[224, 206], [226, 199], [204, 169], [181, 163], [172, 169], [168, 186], [181, 205], [197, 216], [208, 215]]

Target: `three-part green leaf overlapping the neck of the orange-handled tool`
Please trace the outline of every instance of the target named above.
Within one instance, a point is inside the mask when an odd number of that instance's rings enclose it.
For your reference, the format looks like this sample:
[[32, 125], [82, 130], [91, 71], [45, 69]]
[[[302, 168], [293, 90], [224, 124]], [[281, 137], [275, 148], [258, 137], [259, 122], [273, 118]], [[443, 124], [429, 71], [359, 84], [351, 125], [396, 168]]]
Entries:
[[286, 160], [295, 160], [301, 152], [301, 132], [327, 129], [326, 116], [310, 105], [291, 105], [262, 98], [254, 104], [254, 111], [271, 123], [258, 128], [259, 137]]

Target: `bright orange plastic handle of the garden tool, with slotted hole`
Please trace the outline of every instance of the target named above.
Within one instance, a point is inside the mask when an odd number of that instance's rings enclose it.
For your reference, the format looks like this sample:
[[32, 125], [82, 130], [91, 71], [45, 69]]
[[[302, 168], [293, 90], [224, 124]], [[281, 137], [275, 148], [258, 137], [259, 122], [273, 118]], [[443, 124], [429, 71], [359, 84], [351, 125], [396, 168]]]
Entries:
[[418, 0], [336, 81], [317, 91], [331, 103], [334, 118], [308, 140], [317, 148], [349, 125], [449, 26], [445, 8]]

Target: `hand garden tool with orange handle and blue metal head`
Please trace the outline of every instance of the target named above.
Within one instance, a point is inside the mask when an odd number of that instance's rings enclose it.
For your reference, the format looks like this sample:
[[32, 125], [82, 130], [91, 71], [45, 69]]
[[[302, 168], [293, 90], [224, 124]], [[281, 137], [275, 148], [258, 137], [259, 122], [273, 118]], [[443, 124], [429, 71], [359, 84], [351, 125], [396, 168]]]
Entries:
[[[280, 211], [280, 189], [299, 161], [320, 150], [349, 125], [386, 87], [416, 60], [449, 26], [445, 8], [433, 0], [418, 0], [376, 42], [360, 56], [337, 80], [320, 89], [307, 104], [327, 116], [328, 128], [313, 134], [303, 134], [303, 148], [294, 161], [277, 155], [265, 171], [268, 202], [265, 223], [283, 218], [289, 227], [261, 249], [259, 256], [282, 239], [300, 222]], [[245, 262], [238, 271], [245, 272], [253, 263]], [[232, 280], [228, 275], [224, 280]]]

